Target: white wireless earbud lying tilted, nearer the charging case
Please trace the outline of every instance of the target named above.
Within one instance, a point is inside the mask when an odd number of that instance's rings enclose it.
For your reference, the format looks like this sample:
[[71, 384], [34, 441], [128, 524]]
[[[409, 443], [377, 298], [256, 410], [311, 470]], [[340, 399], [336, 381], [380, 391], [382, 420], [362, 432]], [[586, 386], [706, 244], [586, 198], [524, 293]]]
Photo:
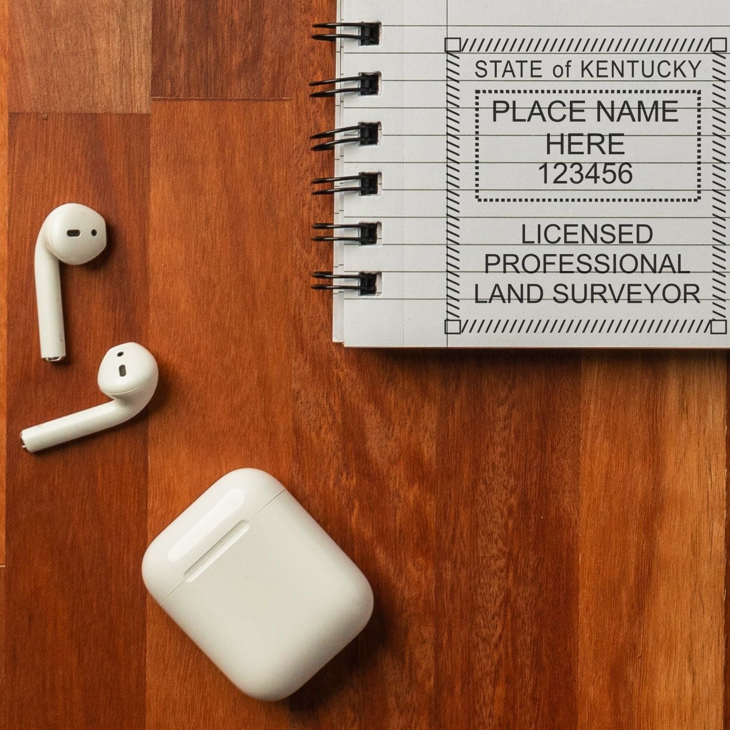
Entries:
[[27, 451], [40, 451], [118, 426], [147, 405], [157, 380], [157, 361], [145, 347], [136, 342], [112, 347], [104, 355], [96, 376], [101, 392], [112, 400], [24, 429], [20, 443]]

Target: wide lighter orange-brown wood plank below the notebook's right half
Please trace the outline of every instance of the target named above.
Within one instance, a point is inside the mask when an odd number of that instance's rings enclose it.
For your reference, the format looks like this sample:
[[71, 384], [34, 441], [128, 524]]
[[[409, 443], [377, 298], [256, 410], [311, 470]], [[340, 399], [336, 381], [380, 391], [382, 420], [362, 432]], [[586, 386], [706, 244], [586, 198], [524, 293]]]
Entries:
[[586, 355], [580, 721], [721, 728], [726, 357]]

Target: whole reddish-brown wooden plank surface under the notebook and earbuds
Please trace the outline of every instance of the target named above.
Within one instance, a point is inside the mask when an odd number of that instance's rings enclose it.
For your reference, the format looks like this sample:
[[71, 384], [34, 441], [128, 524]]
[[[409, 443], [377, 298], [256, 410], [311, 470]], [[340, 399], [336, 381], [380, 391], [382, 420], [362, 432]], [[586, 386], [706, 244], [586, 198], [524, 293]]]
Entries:
[[[1, 6], [9, 729], [723, 727], [723, 353], [333, 345], [307, 277], [331, 261], [309, 185], [331, 159], [307, 137], [333, 110], [307, 82], [334, 69], [309, 39], [334, 0]], [[33, 249], [66, 201], [110, 246], [63, 269], [70, 356], [51, 365]], [[161, 366], [149, 410], [24, 453], [23, 427], [101, 401], [101, 356], [129, 339]], [[361, 636], [275, 704], [140, 577], [240, 466], [287, 485], [375, 593]]]

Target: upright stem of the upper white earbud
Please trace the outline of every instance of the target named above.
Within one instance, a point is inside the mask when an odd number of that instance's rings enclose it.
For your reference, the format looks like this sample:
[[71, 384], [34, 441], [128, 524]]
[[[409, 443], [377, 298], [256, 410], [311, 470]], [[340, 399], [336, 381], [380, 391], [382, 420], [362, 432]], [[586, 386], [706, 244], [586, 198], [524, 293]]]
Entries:
[[41, 357], [55, 362], [66, 357], [64, 307], [61, 302], [61, 273], [58, 259], [44, 245], [43, 229], [36, 242], [36, 300]]

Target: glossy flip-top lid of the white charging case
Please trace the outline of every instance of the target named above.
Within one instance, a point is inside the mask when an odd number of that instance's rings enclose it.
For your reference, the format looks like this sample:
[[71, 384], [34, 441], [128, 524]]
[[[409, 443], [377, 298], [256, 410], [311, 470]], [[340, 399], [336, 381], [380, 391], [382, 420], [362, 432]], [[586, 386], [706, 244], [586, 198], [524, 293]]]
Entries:
[[215, 548], [284, 491], [283, 484], [260, 469], [236, 469], [220, 477], [147, 548], [142, 579], [155, 601], [163, 602], [184, 582], [193, 556]]

